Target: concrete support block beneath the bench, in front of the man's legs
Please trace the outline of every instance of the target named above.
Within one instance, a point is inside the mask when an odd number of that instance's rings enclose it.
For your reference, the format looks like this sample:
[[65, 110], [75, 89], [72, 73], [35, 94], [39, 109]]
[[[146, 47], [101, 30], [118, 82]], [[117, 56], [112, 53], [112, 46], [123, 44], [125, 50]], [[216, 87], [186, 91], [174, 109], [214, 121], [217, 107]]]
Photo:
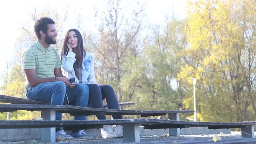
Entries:
[[[44, 120], [55, 121], [55, 111], [42, 111]], [[42, 128], [41, 141], [55, 142], [55, 128]]]

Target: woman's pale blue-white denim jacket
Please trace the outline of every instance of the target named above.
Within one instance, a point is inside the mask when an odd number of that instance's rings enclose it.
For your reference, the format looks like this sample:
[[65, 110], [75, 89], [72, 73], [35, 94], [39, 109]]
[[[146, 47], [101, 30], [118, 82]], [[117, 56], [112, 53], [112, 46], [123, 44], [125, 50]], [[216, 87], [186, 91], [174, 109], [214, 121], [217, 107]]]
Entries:
[[[68, 79], [75, 78], [75, 82], [79, 83], [78, 78], [75, 76], [75, 69], [73, 68], [75, 61], [76, 59], [74, 52], [69, 52], [66, 57], [62, 54], [62, 74]], [[83, 58], [81, 72], [82, 83], [96, 83], [93, 57], [89, 52], [86, 52], [85, 57]]]

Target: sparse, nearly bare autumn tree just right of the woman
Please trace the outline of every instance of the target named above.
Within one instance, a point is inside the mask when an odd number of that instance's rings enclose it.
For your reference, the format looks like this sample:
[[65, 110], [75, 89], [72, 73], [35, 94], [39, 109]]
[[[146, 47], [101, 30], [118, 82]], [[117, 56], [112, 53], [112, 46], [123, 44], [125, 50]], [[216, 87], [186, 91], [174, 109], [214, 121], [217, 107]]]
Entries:
[[[133, 69], [129, 67], [130, 65], [126, 65], [126, 62], [131, 60], [129, 59], [132, 57], [131, 51], [138, 49], [138, 46], [132, 44], [138, 39], [141, 30], [143, 10], [140, 2], [127, 5], [121, 0], [108, 0], [105, 9], [98, 14], [103, 18], [99, 28], [100, 42], [97, 47], [96, 71], [100, 76], [99, 82], [117, 88], [119, 101], [123, 100], [122, 79]], [[133, 90], [129, 89], [129, 91]]]

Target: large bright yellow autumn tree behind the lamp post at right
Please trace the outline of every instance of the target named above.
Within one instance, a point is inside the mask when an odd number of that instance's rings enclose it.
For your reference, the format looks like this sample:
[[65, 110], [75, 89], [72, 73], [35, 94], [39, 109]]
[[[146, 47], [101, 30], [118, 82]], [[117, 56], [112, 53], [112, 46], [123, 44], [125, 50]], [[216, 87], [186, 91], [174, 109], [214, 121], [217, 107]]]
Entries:
[[251, 0], [188, 3], [188, 49], [178, 78], [188, 90], [197, 78], [199, 121], [249, 121], [255, 113], [255, 6]]

